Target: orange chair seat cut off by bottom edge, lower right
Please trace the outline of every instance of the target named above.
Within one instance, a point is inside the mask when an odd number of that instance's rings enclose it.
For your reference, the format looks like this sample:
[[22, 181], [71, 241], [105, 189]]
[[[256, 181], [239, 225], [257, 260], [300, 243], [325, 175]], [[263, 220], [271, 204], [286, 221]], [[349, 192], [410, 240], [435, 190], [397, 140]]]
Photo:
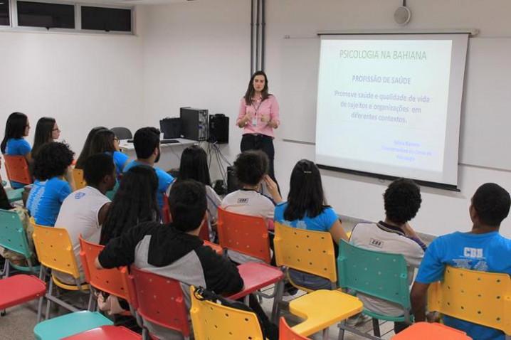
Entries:
[[413, 339], [448, 339], [448, 340], [470, 340], [470, 336], [458, 329], [443, 324], [430, 324], [428, 322], [417, 322], [409, 326], [399, 334], [392, 336], [392, 340], [413, 340]]

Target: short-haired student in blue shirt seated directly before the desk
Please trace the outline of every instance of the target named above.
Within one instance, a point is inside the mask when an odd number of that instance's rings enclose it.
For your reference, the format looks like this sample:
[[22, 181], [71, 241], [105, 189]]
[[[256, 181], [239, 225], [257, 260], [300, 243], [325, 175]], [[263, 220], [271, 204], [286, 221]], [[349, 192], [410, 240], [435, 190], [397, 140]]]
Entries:
[[125, 166], [124, 172], [137, 165], [147, 165], [154, 168], [158, 176], [157, 200], [161, 211], [163, 208], [163, 195], [167, 193], [167, 189], [174, 181], [174, 177], [154, 166], [154, 163], [158, 163], [159, 157], [162, 154], [159, 149], [159, 129], [155, 127], [142, 127], [142, 129], [137, 129], [135, 136], [133, 136], [133, 146], [137, 153], [137, 159], [128, 163]]

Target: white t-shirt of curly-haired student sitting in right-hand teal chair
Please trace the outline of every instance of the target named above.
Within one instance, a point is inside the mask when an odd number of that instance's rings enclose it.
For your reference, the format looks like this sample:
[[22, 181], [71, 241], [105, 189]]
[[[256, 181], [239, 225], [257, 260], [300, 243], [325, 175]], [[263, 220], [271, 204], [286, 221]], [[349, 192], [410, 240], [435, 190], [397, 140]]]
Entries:
[[[424, 250], [421, 245], [406, 237], [401, 230], [385, 223], [358, 223], [352, 230], [349, 243], [359, 248], [376, 250], [383, 253], [402, 254], [408, 265], [409, 285], [413, 280], [413, 269], [421, 264]], [[372, 312], [400, 317], [404, 314], [399, 304], [386, 302], [366, 294], [357, 294], [364, 308]]]

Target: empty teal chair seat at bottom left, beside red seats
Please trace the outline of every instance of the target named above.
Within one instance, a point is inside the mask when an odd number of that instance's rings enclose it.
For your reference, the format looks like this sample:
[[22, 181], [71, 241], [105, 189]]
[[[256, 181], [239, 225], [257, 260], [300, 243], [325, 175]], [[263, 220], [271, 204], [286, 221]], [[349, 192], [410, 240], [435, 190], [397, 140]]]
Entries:
[[38, 340], [57, 340], [112, 324], [110, 319], [99, 312], [82, 311], [40, 322], [34, 327], [33, 333]]

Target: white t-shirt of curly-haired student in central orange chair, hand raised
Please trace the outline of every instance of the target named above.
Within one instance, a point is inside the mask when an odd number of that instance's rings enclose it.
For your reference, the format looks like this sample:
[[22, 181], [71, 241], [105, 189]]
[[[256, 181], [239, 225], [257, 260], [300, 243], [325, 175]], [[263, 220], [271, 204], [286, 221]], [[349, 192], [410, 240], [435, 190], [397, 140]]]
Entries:
[[[233, 213], [262, 216], [270, 221], [273, 221], [273, 214], [275, 212], [275, 203], [270, 198], [250, 189], [240, 189], [229, 193], [223, 198], [221, 207]], [[231, 260], [240, 264], [245, 262], [262, 262], [255, 257], [244, 255], [234, 250], [229, 250], [228, 256]]]

